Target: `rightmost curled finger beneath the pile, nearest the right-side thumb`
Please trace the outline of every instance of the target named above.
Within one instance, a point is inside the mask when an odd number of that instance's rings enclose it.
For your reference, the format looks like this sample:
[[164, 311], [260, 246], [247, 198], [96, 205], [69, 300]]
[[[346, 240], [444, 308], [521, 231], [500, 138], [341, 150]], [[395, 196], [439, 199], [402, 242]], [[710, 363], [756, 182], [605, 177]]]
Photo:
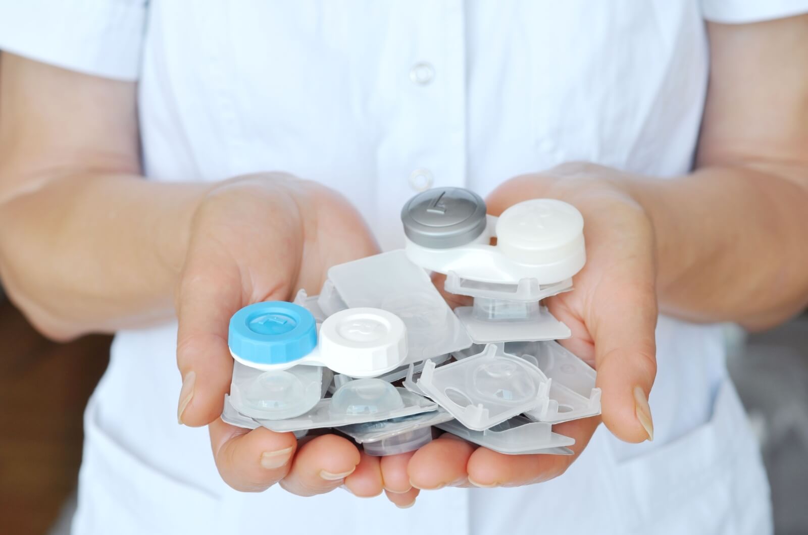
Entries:
[[553, 431], [575, 439], [570, 448], [573, 455], [506, 455], [478, 448], [469, 457], [469, 482], [475, 487], [519, 487], [557, 478], [587, 447], [598, 423], [596, 418], [587, 418], [554, 426]]

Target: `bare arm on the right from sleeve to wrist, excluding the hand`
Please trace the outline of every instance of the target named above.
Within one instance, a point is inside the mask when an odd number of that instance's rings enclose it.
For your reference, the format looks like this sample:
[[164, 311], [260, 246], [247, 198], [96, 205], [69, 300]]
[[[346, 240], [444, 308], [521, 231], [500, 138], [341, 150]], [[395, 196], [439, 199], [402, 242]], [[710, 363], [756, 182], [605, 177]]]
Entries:
[[808, 302], [808, 15], [709, 25], [697, 169], [636, 179], [663, 311], [771, 326]]

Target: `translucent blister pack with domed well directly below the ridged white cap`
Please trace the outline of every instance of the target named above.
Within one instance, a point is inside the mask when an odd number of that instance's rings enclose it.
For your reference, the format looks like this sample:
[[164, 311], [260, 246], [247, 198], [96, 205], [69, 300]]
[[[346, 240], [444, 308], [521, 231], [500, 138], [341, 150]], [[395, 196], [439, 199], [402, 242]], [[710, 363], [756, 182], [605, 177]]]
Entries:
[[321, 399], [304, 415], [283, 420], [259, 419], [259, 423], [275, 432], [339, 428], [351, 423], [436, 411], [437, 408], [436, 403], [427, 398], [396, 388], [387, 381], [356, 379], [340, 386], [332, 397]]

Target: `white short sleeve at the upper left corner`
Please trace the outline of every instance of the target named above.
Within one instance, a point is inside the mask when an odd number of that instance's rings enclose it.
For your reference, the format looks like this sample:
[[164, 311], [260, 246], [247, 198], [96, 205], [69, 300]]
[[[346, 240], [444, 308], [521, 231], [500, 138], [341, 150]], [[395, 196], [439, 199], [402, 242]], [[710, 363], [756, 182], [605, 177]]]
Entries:
[[85, 74], [133, 81], [147, 0], [0, 0], [0, 49]]

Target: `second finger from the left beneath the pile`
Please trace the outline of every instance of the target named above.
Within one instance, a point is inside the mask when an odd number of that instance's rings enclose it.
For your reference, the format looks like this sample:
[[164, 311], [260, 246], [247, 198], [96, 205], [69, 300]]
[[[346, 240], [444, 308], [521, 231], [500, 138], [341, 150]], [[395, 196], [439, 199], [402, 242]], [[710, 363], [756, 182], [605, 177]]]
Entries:
[[316, 436], [297, 450], [292, 469], [280, 487], [300, 496], [333, 491], [360, 464], [360, 453], [350, 440], [336, 435]]

